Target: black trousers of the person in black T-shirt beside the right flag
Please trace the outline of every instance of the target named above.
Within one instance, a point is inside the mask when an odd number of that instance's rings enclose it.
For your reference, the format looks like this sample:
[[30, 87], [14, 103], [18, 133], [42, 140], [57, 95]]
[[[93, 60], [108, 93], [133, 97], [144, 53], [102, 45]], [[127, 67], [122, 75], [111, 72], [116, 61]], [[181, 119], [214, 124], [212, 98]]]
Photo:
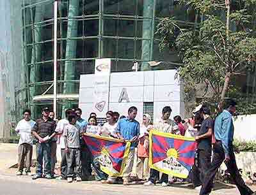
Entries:
[[205, 175], [211, 168], [211, 150], [198, 149], [198, 169], [200, 171], [200, 182], [204, 184]]

